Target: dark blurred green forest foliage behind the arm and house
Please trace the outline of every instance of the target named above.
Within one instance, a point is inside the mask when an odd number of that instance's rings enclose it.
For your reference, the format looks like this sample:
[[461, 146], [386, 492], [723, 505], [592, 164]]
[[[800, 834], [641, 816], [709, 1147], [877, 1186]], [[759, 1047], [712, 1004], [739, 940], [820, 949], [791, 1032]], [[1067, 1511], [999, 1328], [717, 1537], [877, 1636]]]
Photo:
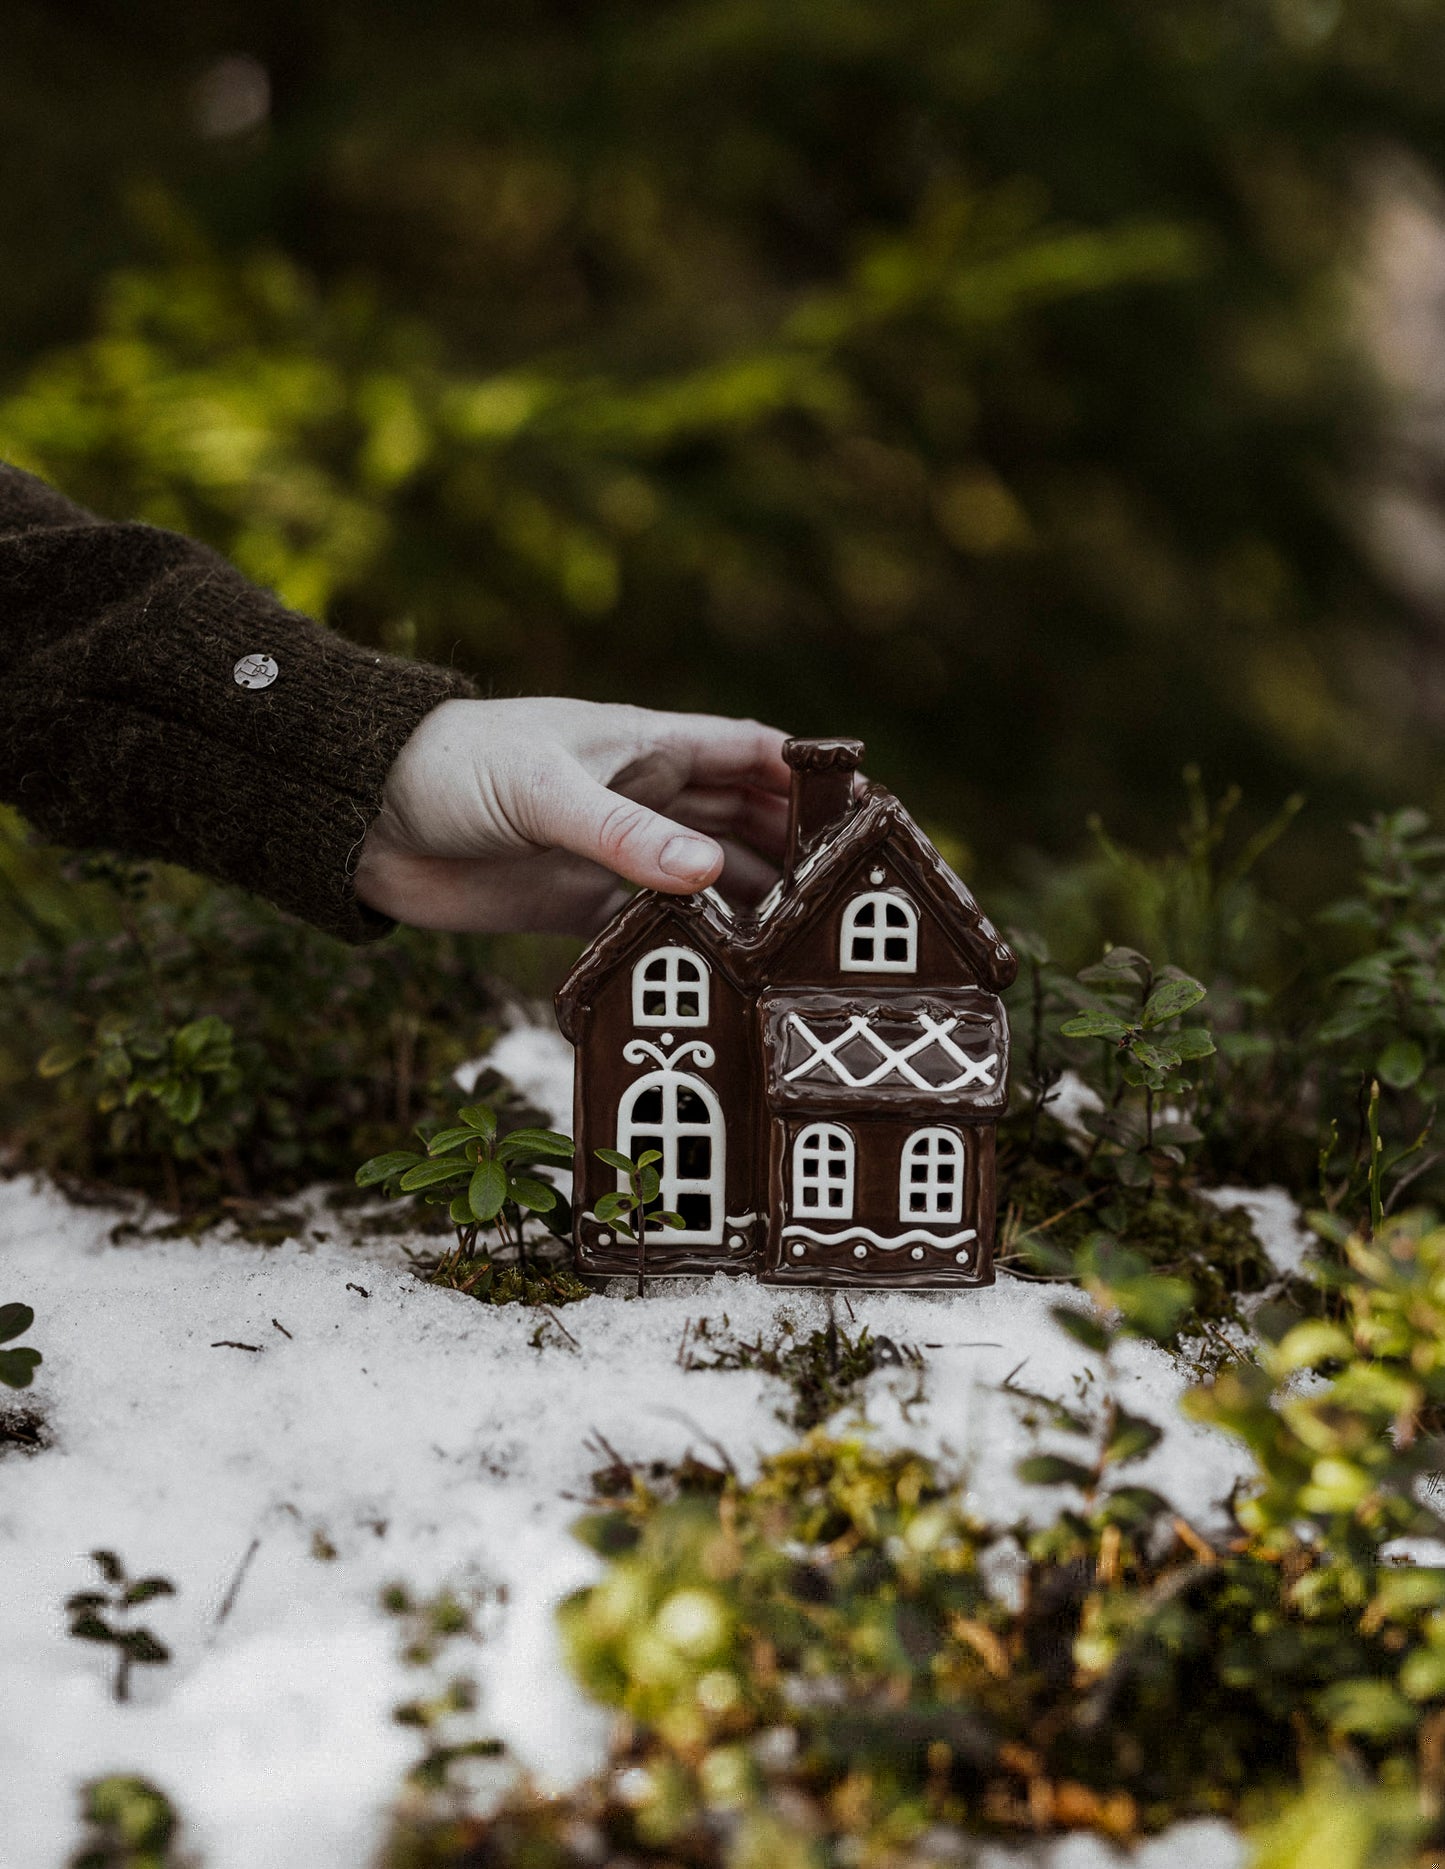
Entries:
[[9, 0], [0, 454], [501, 693], [860, 733], [983, 880], [1196, 759], [1309, 794], [1314, 884], [1439, 804], [1443, 54], [1430, 0]]

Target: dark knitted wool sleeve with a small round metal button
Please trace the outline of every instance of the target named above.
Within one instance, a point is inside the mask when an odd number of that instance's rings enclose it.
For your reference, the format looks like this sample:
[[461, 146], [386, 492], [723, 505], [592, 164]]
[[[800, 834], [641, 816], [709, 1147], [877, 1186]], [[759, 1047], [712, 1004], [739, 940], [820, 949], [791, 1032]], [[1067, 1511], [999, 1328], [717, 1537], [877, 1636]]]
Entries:
[[[204, 546], [4, 464], [0, 649], [0, 798], [45, 837], [239, 882], [342, 940], [391, 927], [351, 893], [357, 850], [460, 677], [357, 649]], [[237, 682], [247, 656], [275, 662], [267, 686]]]

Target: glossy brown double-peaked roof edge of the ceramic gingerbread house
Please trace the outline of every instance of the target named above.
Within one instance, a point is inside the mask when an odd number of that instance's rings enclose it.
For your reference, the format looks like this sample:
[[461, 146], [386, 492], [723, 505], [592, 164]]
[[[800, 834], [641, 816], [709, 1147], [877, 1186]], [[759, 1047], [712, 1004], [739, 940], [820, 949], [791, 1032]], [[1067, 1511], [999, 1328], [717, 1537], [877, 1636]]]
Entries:
[[710, 955], [735, 987], [748, 989], [763, 968], [811, 923], [852, 865], [873, 850], [888, 850], [908, 873], [910, 886], [933, 908], [944, 931], [993, 992], [1002, 992], [1019, 963], [972, 893], [944, 863], [929, 839], [882, 785], [864, 791], [852, 811], [798, 865], [791, 886], [778, 888], [755, 914], [733, 914], [714, 890], [697, 895], [660, 895], [643, 890], [617, 914], [557, 989], [557, 1022], [572, 1039], [579, 1009], [613, 968], [632, 959], [660, 921], [682, 920], [686, 938]]

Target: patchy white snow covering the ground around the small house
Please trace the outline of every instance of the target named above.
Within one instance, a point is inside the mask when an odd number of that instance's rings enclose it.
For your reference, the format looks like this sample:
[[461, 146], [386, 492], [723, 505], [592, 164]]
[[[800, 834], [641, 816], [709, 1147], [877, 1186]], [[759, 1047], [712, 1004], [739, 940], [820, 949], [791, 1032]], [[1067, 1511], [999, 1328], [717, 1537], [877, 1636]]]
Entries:
[[[490, 1062], [566, 1123], [553, 1032], [507, 1034]], [[52, 1434], [43, 1452], [0, 1460], [2, 1869], [60, 1869], [77, 1789], [105, 1772], [168, 1791], [206, 1869], [365, 1869], [415, 1757], [391, 1719], [419, 1688], [378, 1607], [391, 1581], [505, 1591], [477, 1652], [482, 1725], [544, 1783], [591, 1770], [606, 1719], [572, 1688], [551, 1624], [594, 1574], [568, 1533], [600, 1465], [589, 1435], [630, 1458], [722, 1445], [748, 1469], [791, 1439], [781, 1394], [751, 1372], [684, 1370], [684, 1327], [727, 1318], [753, 1336], [787, 1314], [806, 1331], [828, 1299], [723, 1277], [643, 1301], [619, 1286], [559, 1314], [576, 1344], [550, 1325], [538, 1344], [538, 1312], [424, 1286], [394, 1243], [353, 1243], [320, 1204], [273, 1248], [226, 1234], [112, 1245], [114, 1219], [34, 1181], [0, 1185], [0, 1303], [36, 1308], [28, 1340], [45, 1364], [22, 1400]], [[1284, 1256], [1288, 1206], [1260, 1224]], [[989, 1516], [1049, 1508], [1013, 1477], [1030, 1443], [998, 1385], [1013, 1374], [1064, 1396], [1086, 1374], [1049, 1321], [1058, 1295], [1000, 1277], [961, 1297], [851, 1297], [860, 1323], [927, 1346], [922, 1402], [914, 1370], [873, 1377], [873, 1430], [965, 1465]], [[1170, 1424], [1138, 1480], [1208, 1525], [1239, 1456], [1178, 1420], [1185, 1379], [1133, 1346], [1122, 1394]], [[142, 1611], [174, 1660], [136, 1671], [129, 1705], [110, 1697], [108, 1650], [65, 1632], [64, 1600], [92, 1587], [95, 1548], [178, 1587]], [[1135, 1863], [1241, 1860], [1224, 1826], [1195, 1824]], [[1088, 1837], [980, 1856], [1019, 1862], [1114, 1858]]]

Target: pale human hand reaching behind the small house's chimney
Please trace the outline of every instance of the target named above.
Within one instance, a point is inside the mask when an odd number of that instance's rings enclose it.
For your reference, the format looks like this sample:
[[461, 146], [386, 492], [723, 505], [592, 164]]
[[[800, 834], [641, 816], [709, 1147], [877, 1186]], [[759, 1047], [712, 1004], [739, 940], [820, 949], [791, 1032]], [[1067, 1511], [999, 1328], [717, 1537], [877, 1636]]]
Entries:
[[443, 701], [387, 774], [355, 892], [413, 927], [591, 934], [619, 877], [757, 901], [787, 837], [783, 735], [594, 701]]

